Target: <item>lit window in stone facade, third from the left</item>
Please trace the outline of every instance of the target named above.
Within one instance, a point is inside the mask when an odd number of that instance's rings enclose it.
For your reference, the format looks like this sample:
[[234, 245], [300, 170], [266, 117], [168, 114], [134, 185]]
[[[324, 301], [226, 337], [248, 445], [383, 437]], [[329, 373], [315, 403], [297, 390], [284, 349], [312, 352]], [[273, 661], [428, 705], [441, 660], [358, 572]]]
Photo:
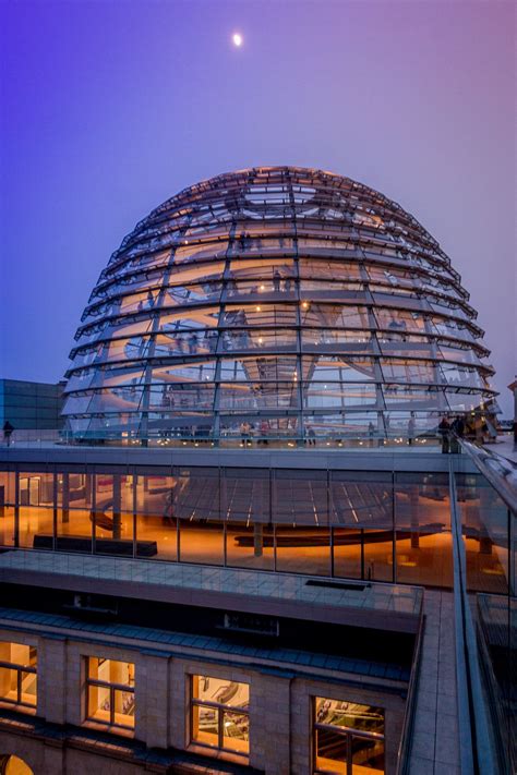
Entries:
[[192, 740], [232, 753], [250, 752], [248, 683], [192, 676]]

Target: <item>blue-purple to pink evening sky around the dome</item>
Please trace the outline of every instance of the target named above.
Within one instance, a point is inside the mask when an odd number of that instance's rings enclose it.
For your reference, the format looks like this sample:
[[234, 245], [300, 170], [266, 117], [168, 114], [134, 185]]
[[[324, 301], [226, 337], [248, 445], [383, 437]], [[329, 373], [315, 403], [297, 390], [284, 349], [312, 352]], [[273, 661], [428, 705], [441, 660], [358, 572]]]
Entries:
[[213, 174], [292, 164], [378, 189], [441, 242], [479, 310], [509, 415], [513, 2], [0, 9], [0, 376], [62, 376], [100, 270], [160, 202]]

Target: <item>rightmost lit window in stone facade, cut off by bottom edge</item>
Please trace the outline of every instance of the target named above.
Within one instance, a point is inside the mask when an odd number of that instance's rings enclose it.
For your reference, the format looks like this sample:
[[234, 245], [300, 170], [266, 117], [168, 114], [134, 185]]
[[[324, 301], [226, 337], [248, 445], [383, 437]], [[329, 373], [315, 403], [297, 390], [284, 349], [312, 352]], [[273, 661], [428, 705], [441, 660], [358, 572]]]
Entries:
[[314, 702], [314, 772], [384, 773], [384, 711], [357, 702]]

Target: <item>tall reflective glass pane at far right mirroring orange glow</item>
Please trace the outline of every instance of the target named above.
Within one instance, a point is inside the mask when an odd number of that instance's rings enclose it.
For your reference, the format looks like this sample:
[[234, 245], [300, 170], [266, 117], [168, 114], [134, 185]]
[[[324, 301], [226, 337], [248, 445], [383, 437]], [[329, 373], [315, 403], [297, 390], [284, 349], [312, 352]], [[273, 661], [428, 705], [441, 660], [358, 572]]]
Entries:
[[[478, 664], [498, 768], [517, 771], [517, 497], [516, 463], [486, 448], [461, 443], [456, 465], [468, 591]], [[476, 464], [474, 473], [468, 462]], [[467, 593], [466, 593], [467, 596]], [[482, 743], [481, 743], [482, 746]]]

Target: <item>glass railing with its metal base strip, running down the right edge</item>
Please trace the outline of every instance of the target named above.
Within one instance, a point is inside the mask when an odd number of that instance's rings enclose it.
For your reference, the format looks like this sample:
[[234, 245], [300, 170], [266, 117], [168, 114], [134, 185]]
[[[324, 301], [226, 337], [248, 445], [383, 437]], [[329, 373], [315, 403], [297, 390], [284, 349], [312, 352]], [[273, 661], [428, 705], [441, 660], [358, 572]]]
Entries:
[[[452, 524], [459, 715], [472, 772], [517, 771], [517, 465], [458, 439], [452, 458]], [[459, 673], [458, 673], [459, 676]], [[462, 702], [462, 707], [461, 707]]]

